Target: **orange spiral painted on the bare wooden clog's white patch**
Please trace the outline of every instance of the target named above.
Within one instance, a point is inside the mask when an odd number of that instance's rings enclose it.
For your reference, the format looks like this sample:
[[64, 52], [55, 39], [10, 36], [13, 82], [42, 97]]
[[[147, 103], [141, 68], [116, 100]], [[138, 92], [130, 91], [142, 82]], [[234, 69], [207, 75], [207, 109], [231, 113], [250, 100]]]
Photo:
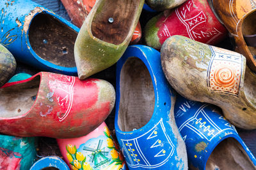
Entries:
[[236, 83], [236, 75], [232, 69], [222, 67], [214, 71], [216, 85], [225, 88], [232, 88]]

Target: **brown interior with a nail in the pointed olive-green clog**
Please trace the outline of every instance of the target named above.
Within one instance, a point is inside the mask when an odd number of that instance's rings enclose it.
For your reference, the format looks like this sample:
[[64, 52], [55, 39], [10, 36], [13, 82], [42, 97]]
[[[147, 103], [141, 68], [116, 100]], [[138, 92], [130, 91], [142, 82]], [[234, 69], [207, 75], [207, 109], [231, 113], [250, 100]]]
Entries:
[[[140, 1], [105, 0], [93, 17], [91, 27], [93, 36], [114, 45], [122, 43], [131, 32]], [[109, 22], [111, 18], [113, 22]]]

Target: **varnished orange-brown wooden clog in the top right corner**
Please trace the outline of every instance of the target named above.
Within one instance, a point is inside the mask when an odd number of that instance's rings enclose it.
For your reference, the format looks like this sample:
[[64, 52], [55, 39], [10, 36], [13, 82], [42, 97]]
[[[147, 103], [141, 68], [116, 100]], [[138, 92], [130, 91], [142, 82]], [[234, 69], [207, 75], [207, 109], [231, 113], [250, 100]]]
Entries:
[[236, 41], [236, 52], [246, 57], [246, 63], [256, 72], [256, 1], [211, 0], [220, 20]]

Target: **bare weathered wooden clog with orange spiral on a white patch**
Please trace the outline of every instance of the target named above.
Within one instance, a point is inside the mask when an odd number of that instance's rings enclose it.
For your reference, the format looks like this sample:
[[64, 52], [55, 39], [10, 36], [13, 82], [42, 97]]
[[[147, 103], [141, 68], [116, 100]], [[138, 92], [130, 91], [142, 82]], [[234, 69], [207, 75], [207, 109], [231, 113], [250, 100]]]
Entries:
[[172, 36], [161, 48], [166, 78], [182, 96], [220, 106], [237, 127], [256, 128], [256, 75], [243, 55]]

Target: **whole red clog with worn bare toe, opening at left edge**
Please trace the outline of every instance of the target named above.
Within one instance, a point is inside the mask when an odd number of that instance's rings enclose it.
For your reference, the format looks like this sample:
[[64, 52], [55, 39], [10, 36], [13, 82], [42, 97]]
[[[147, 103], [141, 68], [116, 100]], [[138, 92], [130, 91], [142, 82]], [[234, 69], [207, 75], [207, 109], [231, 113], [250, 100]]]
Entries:
[[76, 138], [97, 128], [115, 103], [108, 81], [41, 72], [0, 88], [0, 132]]

